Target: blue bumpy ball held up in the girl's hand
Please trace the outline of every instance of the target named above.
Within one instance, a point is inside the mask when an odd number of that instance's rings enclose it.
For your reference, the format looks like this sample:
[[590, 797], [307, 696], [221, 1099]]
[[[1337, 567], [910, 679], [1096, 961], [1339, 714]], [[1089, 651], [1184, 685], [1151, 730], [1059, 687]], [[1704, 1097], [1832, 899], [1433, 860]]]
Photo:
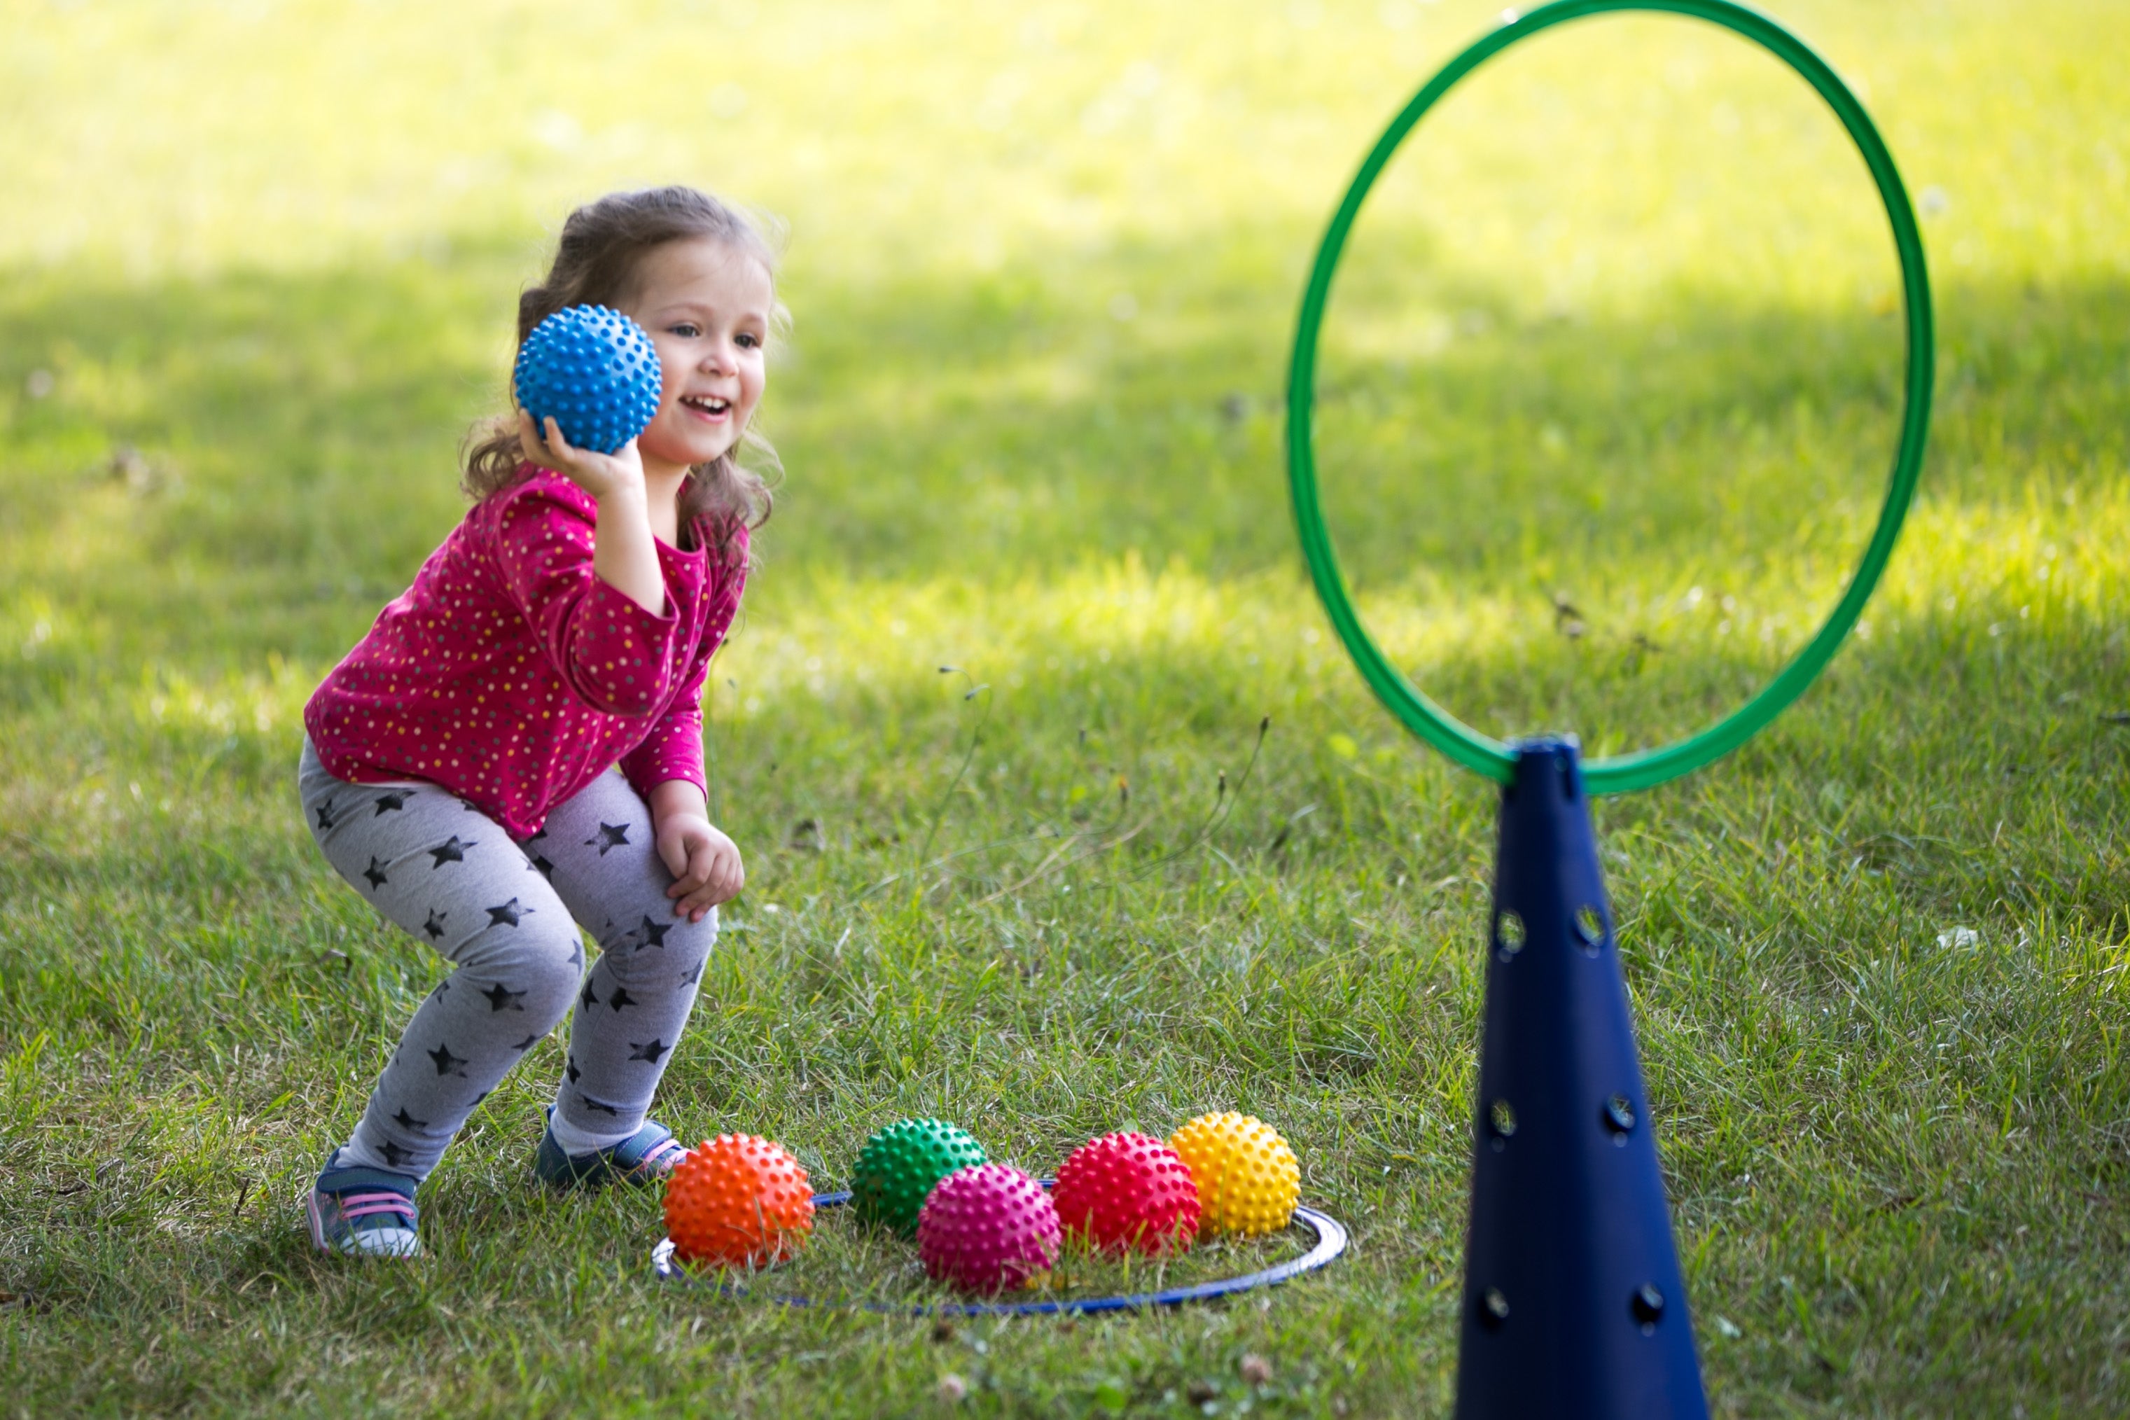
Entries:
[[579, 449], [613, 453], [658, 413], [665, 385], [643, 326], [607, 307], [556, 311], [518, 347], [511, 387], [545, 436], [547, 417]]

